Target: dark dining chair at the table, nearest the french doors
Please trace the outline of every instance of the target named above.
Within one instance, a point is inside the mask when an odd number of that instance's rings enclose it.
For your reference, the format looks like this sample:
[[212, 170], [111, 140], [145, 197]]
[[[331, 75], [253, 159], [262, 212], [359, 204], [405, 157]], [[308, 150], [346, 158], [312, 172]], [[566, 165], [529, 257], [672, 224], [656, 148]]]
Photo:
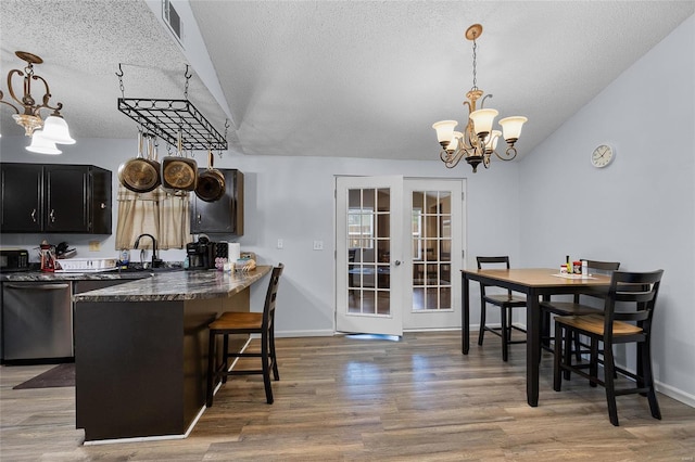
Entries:
[[[509, 269], [509, 257], [476, 257], [478, 261], [478, 269], [494, 269], [506, 268]], [[525, 332], [526, 330], [514, 325], [513, 310], [514, 308], [526, 308], [526, 297], [520, 295], [514, 295], [511, 291], [506, 291], [501, 294], [492, 294], [489, 292], [489, 285], [480, 283], [480, 332], [478, 334], [478, 345], [482, 345], [485, 331], [502, 338], [502, 360], [507, 361], [509, 358], [509, 345], [523, 344], [523, 341], [513, 341], [511, 331], [517, 330]], [[489, 326], [485, 321], [485, 313], [488, 311], [488, 304], [500, 307], [501, 326]]]

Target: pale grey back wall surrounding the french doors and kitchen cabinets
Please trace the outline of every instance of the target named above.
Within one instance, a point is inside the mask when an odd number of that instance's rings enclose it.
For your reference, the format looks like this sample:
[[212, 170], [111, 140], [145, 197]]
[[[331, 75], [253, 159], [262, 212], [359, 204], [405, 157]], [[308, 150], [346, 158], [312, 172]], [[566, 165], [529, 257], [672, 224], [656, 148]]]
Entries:
[[[27, 139], [7, 136], [9, 128], [4, 131], [5, 136], [0, 138], [3, 162], [94, 164], [111, 169], [114, 235], [2, 234], [1, 244], [34, 248], [42, 239], [48, 239], [51, 243], [68, 242], [77, 247], [81, 257], [117, 256], [114, 248], [117, 170], [121, 163], [135, 155], [135, 139], [77, 140], [77, 144], [63, 146], [62, 155], [46, 156], [26, 152]], [[230, 154], [216, 159], [216, 167], [239, 168], [244, 174], [245, 235], [239, 240], [242, 249], [257, 253], [261, 264], [286, 264], [280, 288], [282, 303], [277, 319], [278, 335], [333, 333], [333, 189], [337, 175], [466, 177], [468, 226], [464, 239], [468, 243], [468, 265], [475, 265], [471, 256], [481, 254], [509, 254], [513, 261], [520, 258], [518, 165], [493, 162], [489, 170], [481, 167], [476, 175], [467, 164], [450, 170], [439, 161], [438, 149], [432, 132], [434, 161], [431, 162]], [[197, 155], [198, 162], [202, 163], [203, 157]], [[276, 248], [278, 239], [283, 240], [282, 249]], [[312, 249], [315, 240], [324, 241], [325, 251]], [[89, 252], [90, 241], [100, 241], [101, 251]], [[184, 256], [184, 251], [164, 251], [161, 254], [163, 259], [174, 261], [182, 260]], [[135, 251], [131, 258], [138, 258]], [[255, 306], [262, 305], [264, 295], [262, 287], [253, 293]], [[471, 323], [478, 323], [478, 319], [479, 310], [475, 304]]]

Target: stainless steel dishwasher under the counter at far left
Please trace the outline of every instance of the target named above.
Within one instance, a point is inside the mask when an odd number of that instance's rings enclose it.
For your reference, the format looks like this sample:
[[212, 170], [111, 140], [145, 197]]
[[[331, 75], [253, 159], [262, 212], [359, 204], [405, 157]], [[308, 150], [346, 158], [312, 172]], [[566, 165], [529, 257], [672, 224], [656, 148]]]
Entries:
[[3, 362], [60, 362], [73, 357], [71, 282], [4, 282]]

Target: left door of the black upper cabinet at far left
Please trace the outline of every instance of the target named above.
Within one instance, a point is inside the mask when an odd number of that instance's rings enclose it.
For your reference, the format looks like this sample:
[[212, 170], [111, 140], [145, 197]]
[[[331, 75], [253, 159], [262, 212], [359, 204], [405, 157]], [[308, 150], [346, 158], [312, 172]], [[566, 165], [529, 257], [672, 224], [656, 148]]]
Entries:
[[2, 232], [40, 232], [41, 164], [2, 164]]

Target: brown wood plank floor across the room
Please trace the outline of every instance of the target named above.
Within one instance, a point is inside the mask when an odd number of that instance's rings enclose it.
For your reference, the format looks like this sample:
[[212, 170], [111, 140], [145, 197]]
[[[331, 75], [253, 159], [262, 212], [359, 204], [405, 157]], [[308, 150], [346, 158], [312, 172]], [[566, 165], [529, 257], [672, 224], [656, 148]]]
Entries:
[[260, 376], [231, 377], [184, 440], [83, 446], [74, 388], [14, 390], [49, 367], [0, 369], [2, 461], [692, 461], [695, 409], [659, 395], [618, 398], [579, 377], [552, 389], [541, 367], [538, 408], [526, 403], [525, 345], [503, 363], [500, 339], [408, 333], [401, 342], [279, 338], [280, 382], [265, 403]]

